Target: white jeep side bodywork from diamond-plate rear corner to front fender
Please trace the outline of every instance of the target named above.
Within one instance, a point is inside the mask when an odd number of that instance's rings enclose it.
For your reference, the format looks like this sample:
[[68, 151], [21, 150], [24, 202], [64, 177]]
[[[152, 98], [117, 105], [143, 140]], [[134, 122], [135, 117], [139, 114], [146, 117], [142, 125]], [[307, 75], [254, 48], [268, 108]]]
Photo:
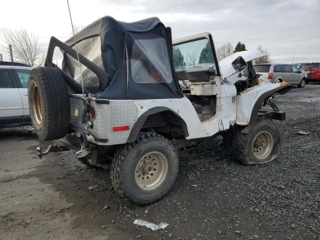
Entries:
[[[186, 139], [208, 137], [219, 131], [229, 129], [230, 125], [247, 125], [256, 100], [265, 92], [279, 87], [279, 83], [261, 82], [259, 85], [249, 88], [236, 95], [234, 84], [224, 81], [221, 87], [221, 96], [216, 98], [215, 116], [201, 122], [192, 103], [186, 97], [172, 99], [147, 99], [147, 100], [109, 100], [109, 104], [91, 103], [96, 108], [96, 118], [93, 120], [92, 134], [100, 139], [108, 139], [107, 142], [99, 142], [89, 136], [88, 140], [102, 145], [114, 145], [125, 143], [130, 135], [134, 123], [148, 110], [154, 107], [166, 107], [180, 116], [187, 127]], [[78, 121], [79, 112], [83, 108], [82, 100], [71, 103], [71, 123], [79, 128], [85, 128], [85, 124]], [[72, 113], [77, 113], [72, 117]], [[128, 125], [129, 130], [112, 131], [113, 126]]]

